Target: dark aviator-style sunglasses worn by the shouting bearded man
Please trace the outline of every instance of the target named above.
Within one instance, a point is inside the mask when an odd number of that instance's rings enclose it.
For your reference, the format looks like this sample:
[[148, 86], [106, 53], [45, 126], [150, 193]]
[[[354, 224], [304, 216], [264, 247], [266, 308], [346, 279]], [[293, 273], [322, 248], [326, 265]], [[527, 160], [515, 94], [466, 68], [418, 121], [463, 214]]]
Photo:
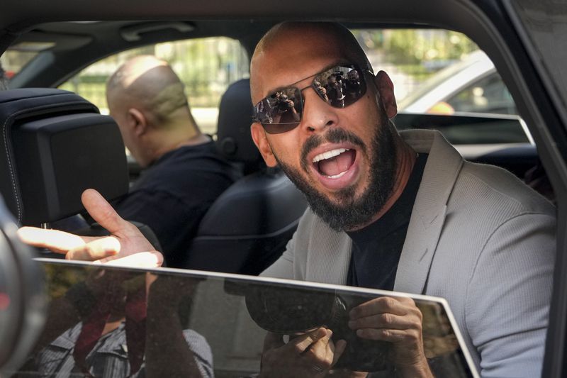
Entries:
[[364, 72], [372, 73], [368, 69], [361, 70], [357, 65], [336, 65], [312, 75], [313, 82], [308, 87], [277, 89], [254, 106], [253, 121], [262, 123], [264, 130], [270, 134], [296, 128], [301, 122], [305, 102], [301, 92], [308, 88], [313, 88], [320, 99], [334, 108], [352, 105], [366, 93]]

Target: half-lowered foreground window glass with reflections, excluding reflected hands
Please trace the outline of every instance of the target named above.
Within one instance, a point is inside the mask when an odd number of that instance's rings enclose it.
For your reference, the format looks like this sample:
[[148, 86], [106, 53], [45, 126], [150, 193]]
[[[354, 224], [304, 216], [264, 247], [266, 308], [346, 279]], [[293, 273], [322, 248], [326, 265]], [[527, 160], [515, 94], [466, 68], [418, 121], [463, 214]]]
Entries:
[[[22, 375], [247, 377], [259, 372], [264, 339], [288, 343], [325, 327], [333, 343], [347, 341], [336, 369], [395, 377], [389, 344], [358, 338], [347, 321], [354, 306], [400, 294], [61, 260], [43, 265], [50, 314]], [[414, 300], [432, 370], [474, 376], [445, 302]]]

